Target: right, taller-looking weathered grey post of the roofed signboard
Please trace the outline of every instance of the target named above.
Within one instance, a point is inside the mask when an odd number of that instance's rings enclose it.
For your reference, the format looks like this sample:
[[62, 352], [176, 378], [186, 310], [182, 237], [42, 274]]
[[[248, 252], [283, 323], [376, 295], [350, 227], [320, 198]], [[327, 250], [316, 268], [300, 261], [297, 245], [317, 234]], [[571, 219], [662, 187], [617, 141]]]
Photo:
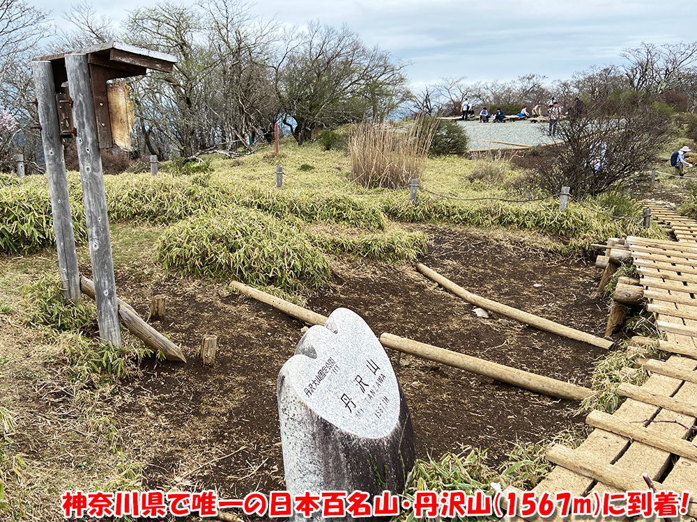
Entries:
[[115, 347], [121, 347], [107, 198], [104, 192], [102, 158], [97, 141], [97, 122], [94, 115], [87, 55], [66, 54], [66, 70], [72, 97], [72, 118], [77, 128], [75, 141], [87, 219], [92, 275], [96, 288], [99, 336]]

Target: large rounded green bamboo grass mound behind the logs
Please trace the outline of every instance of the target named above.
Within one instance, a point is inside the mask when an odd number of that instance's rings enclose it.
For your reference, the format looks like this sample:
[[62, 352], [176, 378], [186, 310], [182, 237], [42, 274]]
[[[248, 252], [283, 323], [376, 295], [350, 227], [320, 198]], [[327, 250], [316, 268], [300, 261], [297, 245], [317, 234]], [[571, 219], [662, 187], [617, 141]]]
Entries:
[[239, 206], [181, 221], [158, 242], [165, 269], [298, 290], [327, 283], [329, 260], [296, 226]]

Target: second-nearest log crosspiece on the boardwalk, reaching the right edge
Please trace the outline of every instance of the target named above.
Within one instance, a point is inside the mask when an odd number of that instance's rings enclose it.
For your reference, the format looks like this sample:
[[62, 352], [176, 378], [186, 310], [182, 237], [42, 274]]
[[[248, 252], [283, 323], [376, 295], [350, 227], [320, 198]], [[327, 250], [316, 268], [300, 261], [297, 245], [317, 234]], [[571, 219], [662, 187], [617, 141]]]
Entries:
[[668, 437], [658, 434], [641, 423], [648, 419], [636, 419], [637, 422], [627, 422], [616, 417], [603, 413], [602, 411], [594, 410], [585, 418], [585, 423], [589, 426], [604, 429], [606, 432], [611, 432], [623, 437], [631, 438], [634, 441], [659, 448], [685, 457], [686, 459], [697, 459], [697, 445], [682, 438]]

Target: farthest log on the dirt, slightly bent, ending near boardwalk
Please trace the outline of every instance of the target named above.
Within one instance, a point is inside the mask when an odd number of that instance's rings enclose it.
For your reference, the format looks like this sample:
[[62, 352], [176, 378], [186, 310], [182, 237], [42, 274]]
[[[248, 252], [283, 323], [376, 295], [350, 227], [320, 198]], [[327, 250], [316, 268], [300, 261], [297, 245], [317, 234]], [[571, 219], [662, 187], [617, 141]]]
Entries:
[[429, 269], [429, 267], [425, 266], [424, 264], [419, 263], [416, 265], [416, 267], [418, 271], [424, 274], [424, 276], [435, 281], [436, 283], [438, 283], [438, 285], [441, 285], [446, 290], [449, 290], [453, 294], [461, 297], [468, 303], [473, 304], [475, 306], [480, 306], [485, 310], [505, 315], [506, 317], [516, 319], [516, 321], [520, 321], [525, 324], [530, 324], [530, 326], [535, 326], [535, 328], [538, 328], [540, 330], [556, 333], [557, 335], [562, 335], [563, 337], [567, 337], [569, 339], [588, 342], [588, 344], [600, 348], [607, 349], [614, 344], [612, 341], [596, 337], [595, 335], [591, 335], [590, 333], [585, 333], [580, 330], [570, 328], [569, 326], [564, 326], [563, 324], [550, 321], [549, 319], [544, 319], [543, 317], [539, 317], [528, 312], [523, 312], [523, 310], [518, 310], [517, 308], [513, 308], [512, 306], [507, 306], [503, 303], [491, 301], [491, 299], [486, 299], [484, 297], [478, 296], [477, 294], [473, 294], [472, 292], [468, 292], [463, 287], [456, 285], [450, 279], [441, 276], [441, 274], [438, 274], [438, 272]]

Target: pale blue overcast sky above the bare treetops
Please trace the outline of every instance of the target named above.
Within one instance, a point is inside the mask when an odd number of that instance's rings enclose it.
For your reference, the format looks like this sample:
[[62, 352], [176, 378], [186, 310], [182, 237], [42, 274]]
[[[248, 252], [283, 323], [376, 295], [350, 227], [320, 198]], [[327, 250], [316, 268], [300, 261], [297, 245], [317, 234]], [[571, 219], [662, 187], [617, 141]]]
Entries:
[[[56, 19], [70, 5], [34, 3]], [[121, 19], [150, 3], [93, 5]], [[289, 25], [346, 23], [369, 45], [409, 63], [415, 86], [442, 77], [505, 81], [531, 72], [562, 79], [590, 65], [618, 63], [623, 48], [642, 41], [697, 40], [696, 0], [264, 0], [252, 10]]]

